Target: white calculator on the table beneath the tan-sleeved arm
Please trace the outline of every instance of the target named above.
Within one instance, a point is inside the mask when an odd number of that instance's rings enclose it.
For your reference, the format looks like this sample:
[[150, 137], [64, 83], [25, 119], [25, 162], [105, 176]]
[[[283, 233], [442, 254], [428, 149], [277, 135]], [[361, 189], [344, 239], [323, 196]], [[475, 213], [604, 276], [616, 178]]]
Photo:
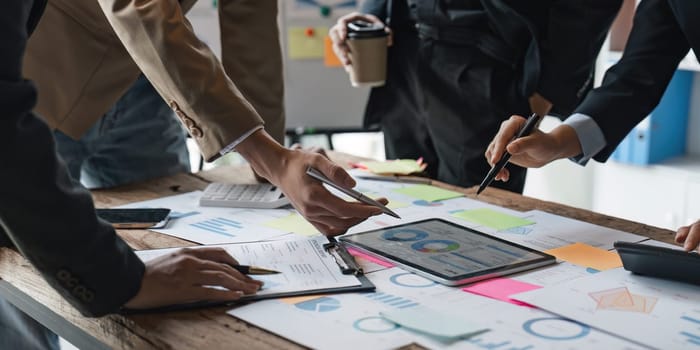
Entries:
[[279, 208], [289, 204], [282, 190], [272, 184], [236, 185], [214, 182], [199, 198], [203, 207]]

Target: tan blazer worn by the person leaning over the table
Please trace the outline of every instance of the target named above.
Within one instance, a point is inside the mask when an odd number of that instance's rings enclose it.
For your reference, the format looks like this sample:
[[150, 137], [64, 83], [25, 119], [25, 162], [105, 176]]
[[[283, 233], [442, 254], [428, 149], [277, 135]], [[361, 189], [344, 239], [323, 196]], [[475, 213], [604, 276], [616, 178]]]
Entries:
[[281, 141], [277, 0], [219, 0], [223, 65], [184, 17], [195, 1], [49, 0], [24, 61], [39, 90], [36, 111], [77, 139], [140, 69], [207, 160], [263, 119]]

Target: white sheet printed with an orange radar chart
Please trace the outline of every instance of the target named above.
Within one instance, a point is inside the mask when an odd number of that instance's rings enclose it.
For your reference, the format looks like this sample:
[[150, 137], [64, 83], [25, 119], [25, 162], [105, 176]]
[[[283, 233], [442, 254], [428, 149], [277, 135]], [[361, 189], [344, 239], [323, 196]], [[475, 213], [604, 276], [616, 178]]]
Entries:
[[657, 349], [700, 346], [700, 287], [603, 271], [514, 298]]

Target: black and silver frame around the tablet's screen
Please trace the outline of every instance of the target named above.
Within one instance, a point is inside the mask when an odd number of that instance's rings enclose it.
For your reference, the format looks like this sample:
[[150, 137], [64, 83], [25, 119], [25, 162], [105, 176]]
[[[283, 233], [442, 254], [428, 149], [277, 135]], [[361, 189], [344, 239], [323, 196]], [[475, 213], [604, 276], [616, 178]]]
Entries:
[[[450, 276], [446, 276], [442, 273], [439, 273], [437, 271], [431, 270], [427, 267], [420, 266], [420, 265], [416, 264], [415, 262], [407, 261], [407, 260], [404, 260], [402, 258], [393, 256], [390, 253], [383, 252], [380, 249], [377, 249], [376, 247], [372, 247], [372, 246], [369, 246], [369, 245], [366, 245], [366, 244], [363, 244], [363, 243], [360, 243], [360, 242], [353, 240], [354, 237], [358, 237], [361, 235], [376, 233], [378, 231], [392, 230], [392, 229], [401, 228], [401, 227], [413, 227], [416, 224], [421, 224], [421, 223], [430, 222], [430, 221], [439, 221], [439, 222], [442, 222], [442, 223], [447, 224], [449, 226], [453, 226], [457, 229], [463, 230], [466, 233], [476, 234], [476, 235], [485, 237], [487, 239], [491, 239], [491, 240], [496, 241], [496, 242], [501, 242], [501, 243], [507, 244], [509, 246], [512, 246], [514, 248], [518, 248], [518, 249], [522, 249], [522, 250], [525, 250], [525, 251], [530, 252], [530, 253], [534, 253], [534, 254], [538, 255], [539, 257], [534, 258], [532, 260], [522, 261], [522, 262], [509, 264], [509, 265], [491, 267], [491, 268], [479, 270], [476, 272], [470, 272], [470, 273], [465, 273], [462, 275], [450, 277]], [[535, 268], [538, 268], [541, 266], [556, 263], [556, 258], [552, 255], [543, 253], [541, 251], [538, 251], [538, 250], [535, 250], [532, 248], [522, 246], [522, 245], [517, 244], [517, 243], [509, 242], [509, 241], [506, 241], [504, 239], [494, 237], [494, 236], [489, 235], [487, 233], [480, 232], [480, 231], [477, 231], [475, 229], [465, 227], [465, 226], [462, 226], [462, 225], [459, 225], [459, 224], [456, 224], [454, 222], [450, 222], [450, 221], [447, 221], [447, 220], [444, 220], [441, 218], [430, 218], [430, 219], [413, 221], [413, 222], [409, 222], [409, 223], [405, 223], [405, 224], [388, 226], [388, 227], [383, 227], [383, 228], [374, 229], [374, 230], [370, 230], [370, 231], [355, 233], [355, 234], [340, 237], [340, 240], [346, 244], [353, 246], [356, 249], [359, 249], [360, 251], [362, 251], [364, 253], [374, 255], [374, 256], [377, 256], [379, 258], [387, 259], [387, 260], [391, 261], [392, 263], [395, 263], [396, 265], [403, 267], [406, 270], [409, 270], [409, 271], [414, 272], [418, 275], [426, 277], [430, 280], [433, 280], [433, 281], [436, 281], [438, 283], [448, 285], [448, 286], [458, 286], [458, 285], [477, 282], [477, 281], [481, 281], [481, 280], [485, 280], [485, 279], [489, 279], [489, 278], [510, 275], [510, 274], [513, 274], [516, 272], [531, 270], [531, 269], [535, 269]]]

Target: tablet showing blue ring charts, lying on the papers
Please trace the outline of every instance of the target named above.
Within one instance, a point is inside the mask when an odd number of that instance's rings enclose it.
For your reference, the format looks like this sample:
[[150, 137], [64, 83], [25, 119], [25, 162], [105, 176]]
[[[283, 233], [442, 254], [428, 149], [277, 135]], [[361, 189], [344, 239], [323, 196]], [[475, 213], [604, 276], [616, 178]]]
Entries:
[[416, 221], [340, 239], [449, 286], [556, 262], [551, 255], [442, 219]]

